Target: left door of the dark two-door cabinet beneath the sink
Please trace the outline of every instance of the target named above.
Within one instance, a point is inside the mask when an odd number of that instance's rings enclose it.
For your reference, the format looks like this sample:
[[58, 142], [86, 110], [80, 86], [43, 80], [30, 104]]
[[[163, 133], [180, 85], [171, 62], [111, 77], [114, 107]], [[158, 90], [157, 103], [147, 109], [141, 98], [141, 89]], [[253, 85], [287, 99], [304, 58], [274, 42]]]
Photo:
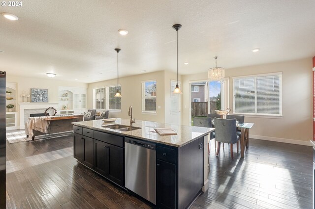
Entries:
[[94, 140], [94, 170], [103, 176], [108, 174], [108, 145], [105, 142]]

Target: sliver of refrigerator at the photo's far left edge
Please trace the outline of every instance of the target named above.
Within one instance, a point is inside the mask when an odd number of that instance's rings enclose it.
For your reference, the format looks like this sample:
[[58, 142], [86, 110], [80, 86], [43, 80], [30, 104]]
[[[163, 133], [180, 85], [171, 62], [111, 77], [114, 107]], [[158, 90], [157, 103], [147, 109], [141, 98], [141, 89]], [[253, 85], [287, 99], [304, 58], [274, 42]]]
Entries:
[[5, 209], [5, 72], [0, 71], [0, 209]]

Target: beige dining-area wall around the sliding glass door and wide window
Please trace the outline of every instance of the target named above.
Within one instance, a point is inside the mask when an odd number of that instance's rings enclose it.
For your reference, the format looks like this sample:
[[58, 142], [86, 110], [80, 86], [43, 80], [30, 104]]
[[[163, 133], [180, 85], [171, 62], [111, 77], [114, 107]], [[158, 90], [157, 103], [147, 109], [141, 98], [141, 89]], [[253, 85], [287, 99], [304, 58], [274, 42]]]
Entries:
[[[283, 117], [262, 118], [245, 116], [246, 122], [255, 123], [250, 130], [250, 137], [298, 143], [308, 145], [312, 139], [312, 58], [287, 62], [263, 64], [234, 69], [226, 69], [225, 77], [229, 77], [229, 101], [233, 107], [232, 77], [264, 73], [283, 72]], [[207, 72], [182, 76], [183, 79], [183, 118], [182, 123], [189, 125], [189, 81], [207, 78]]]

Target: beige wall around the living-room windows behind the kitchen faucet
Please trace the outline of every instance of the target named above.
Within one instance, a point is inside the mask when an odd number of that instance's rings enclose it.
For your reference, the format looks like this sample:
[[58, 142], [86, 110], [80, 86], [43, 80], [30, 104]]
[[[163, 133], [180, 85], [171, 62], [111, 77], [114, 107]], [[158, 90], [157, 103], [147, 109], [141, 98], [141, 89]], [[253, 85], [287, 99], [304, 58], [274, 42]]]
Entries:
[[[142, 113], [141, 82], [154, 79], [157, 80], [157, 113], [156, 114]], [[128, 116], [128, 108], [131, 105], [133, 110], [133, 117], [135, 117], [136, 120], [138, 119], [147, 121], [157, 121], [164, 123], [165, 120], [164, 71], [119, 78], [119, 84], [121, 85], [122, 88], [121, 112], [111, 111], [110, 117], [130, 118], [130, 116]], [[112, 85], [117, 85], [117, 79], [90, 83], [88, 88], [89, 98], [88, 107], [89, 108], [93, 107], [92, 98], [94, 88]], [[160, 108], [158, 108], [158, 106], [160, 106]]]

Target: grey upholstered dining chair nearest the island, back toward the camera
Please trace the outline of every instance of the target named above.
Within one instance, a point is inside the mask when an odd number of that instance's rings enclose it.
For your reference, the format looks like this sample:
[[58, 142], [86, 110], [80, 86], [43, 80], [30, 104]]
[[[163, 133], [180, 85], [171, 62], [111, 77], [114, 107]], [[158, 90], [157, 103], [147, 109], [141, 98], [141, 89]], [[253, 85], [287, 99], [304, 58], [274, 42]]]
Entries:
[[238, 153], [238, 144], [240, 137], [236, 134], [236, 119], [215, 118], [216, 141], [218, 142], [216, 156], [220, 153], [221, 143], [230, 144], [231, 158], [233, 159], [233, 144], [236, 143]]

